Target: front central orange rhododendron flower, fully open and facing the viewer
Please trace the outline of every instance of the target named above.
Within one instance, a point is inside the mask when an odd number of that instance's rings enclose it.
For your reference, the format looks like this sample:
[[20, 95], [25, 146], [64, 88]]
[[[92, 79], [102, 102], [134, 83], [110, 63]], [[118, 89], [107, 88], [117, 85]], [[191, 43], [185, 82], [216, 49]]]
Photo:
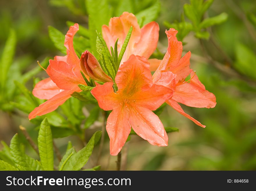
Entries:
[[[175, 74], [161, 73], [167, 76], [175, 86]], [[91, 93], [103, 110], [113, 110], [106, 124], [110, 138], [110, 153], [117, 155], [127, 137], [133, 130], [153, 145], [167, 146], [168, 136], [157, 115], [156, 110], [169, 99], [173, 90], [163, 85], [152, 83], [149, 63], [145, 57], [131, 55], [120, 66], [115, 82], [118, 91], [113, 90], [113, 82], [97, 85]]]

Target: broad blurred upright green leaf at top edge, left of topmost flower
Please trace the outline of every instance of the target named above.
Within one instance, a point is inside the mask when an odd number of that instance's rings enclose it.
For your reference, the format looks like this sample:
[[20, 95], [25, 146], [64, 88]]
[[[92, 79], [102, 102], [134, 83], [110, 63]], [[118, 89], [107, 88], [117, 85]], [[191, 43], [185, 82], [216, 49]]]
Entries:
[[96, 51], [96, 39], [97, 34], [95, 31], [101, 31], [103, 24], [108, 24], [110, 15], [110, 9], [107, 0], [87, 0], [86, 8], [88, 12], [88, 26], [90, 33], [90, 47], [93, 55], [97, 58]]

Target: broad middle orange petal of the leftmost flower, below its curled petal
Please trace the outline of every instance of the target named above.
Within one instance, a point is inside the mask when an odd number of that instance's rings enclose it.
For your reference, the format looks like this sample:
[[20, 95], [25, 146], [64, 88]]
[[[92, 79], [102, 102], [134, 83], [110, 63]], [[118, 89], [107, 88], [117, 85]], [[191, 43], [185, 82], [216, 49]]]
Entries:
[[76, 67], [63, 61], [49, 60], [49, 63], [46, 72], [60, 89], [71, 90], [77, 84], [85, 84], [79, 63]]

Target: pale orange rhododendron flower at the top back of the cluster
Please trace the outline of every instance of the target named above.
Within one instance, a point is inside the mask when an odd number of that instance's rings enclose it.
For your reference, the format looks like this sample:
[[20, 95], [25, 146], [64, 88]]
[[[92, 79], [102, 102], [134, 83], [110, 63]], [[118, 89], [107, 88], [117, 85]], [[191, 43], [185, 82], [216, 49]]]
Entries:
[[[125, 41], [125, 37], [132, 26], [132, 33], [120, 65], [128, 60], [131, 54], [144, 56], [148, 59], [157, 48], [159, 38], [159, 25], [157, 22], [150, 22], [140, 28], [138, 20], [134, 14], [124, 12], [120, 17], [113, 17], [109, 21], [109, 26], [102, 26], [102, 35], [109, 48], [114, 47], [118, 39], [117, 49], [120, 52]], [[148, 60], [154, 62], [156, 59]]]

